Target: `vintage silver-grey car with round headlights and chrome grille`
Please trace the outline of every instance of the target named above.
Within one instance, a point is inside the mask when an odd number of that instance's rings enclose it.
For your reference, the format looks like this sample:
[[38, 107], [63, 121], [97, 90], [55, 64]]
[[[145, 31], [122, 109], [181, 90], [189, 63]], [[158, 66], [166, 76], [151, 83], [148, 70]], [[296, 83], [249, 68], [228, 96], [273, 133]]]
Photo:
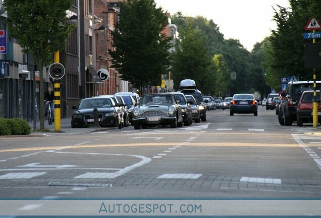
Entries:
[[183, 126], [182, 106], [172, 94], [145, 94], [133, 113], [134, 129], [171, 125]]

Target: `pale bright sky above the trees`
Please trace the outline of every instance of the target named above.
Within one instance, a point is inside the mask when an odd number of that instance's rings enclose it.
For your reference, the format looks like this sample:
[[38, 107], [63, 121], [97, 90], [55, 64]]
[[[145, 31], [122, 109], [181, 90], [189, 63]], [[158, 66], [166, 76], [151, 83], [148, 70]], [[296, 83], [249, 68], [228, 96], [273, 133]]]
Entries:
[[239, 39], [249, 51], [276, 29], [272, 7], [289, 7], [288, 0], [154, 0], [171, 15], [203, 16], [216, 23], [225, 39]]

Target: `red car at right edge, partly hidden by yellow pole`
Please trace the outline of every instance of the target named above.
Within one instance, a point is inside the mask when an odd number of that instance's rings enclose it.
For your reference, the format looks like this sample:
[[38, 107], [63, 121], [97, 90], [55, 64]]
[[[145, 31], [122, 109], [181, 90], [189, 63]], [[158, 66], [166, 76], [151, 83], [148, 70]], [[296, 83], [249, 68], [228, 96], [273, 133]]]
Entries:
[[[320, 103], [320, 91], [316, 91], [316, 101], [318, 110], [318, 120], [321, 119], [321, 103]], [[302, 126], [303, 123], [313, 122], [312, 117], [312, 103], [313, 103], [313, 91], [304, 91], [300, 97], [298, 107], [296, 108], [297, 125]]]

